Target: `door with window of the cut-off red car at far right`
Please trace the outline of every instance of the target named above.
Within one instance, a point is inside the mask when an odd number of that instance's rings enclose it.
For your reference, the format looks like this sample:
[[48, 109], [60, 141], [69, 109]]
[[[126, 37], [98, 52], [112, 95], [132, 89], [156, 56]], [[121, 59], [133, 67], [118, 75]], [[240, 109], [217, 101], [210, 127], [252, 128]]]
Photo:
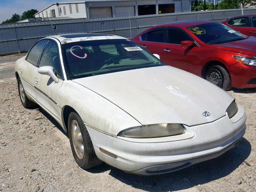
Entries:
[[252, 33], [250, 32], [253, 30], [253, 28], [251, 26], [250, 17], [248, 16], [233, 18], [228, 21], [228, 25], [242, 34], [252, 36]]

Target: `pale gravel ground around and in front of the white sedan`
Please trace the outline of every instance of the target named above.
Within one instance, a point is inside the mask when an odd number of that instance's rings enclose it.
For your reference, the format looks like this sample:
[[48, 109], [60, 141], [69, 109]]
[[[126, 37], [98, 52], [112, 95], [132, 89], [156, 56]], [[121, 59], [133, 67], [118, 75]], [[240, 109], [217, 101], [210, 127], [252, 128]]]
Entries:
[[0, 191], [256, 191], [256, 89], [228, 92], [245, 108], [248, 128], [237, 147], [216, 159], [157, 176], [106, 164], [83, 170], [60, 125], [42, 108], [20, 103], [12, 61], [21, 56], [0, 57]]

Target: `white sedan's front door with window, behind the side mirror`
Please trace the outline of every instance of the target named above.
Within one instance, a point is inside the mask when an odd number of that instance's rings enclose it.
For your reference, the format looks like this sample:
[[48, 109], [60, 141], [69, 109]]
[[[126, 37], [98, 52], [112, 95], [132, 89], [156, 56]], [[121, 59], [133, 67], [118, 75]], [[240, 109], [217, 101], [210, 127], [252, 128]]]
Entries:
[[58, 45], [54, 40], [49, 40], [39, 60], [39, 67], [52, 66], [59, 82], [56, 83], [48, 76], [36, 73], [36, 99], [40, 105], [57, 120], [61, 120], [61, 108], [57, 103], [57, 92], [63, 84], [63, 72], [60, 64]]

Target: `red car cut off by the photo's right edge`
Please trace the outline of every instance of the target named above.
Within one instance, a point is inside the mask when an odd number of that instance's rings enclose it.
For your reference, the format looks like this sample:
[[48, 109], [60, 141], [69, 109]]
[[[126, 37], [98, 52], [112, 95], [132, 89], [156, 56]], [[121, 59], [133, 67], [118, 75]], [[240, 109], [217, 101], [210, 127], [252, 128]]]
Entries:
[[248, 36], [256, 36], [256, 15], [241, 15], [222, 22]]

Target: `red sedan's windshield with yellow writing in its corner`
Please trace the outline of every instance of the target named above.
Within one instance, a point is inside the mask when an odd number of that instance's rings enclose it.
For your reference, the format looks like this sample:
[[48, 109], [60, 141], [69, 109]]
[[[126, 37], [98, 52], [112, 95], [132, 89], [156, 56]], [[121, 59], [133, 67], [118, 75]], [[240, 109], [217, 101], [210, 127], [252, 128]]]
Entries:
[[220, 23], [208, 23], [187, 28], [206, 44], [220, 44], [248, 38]]

